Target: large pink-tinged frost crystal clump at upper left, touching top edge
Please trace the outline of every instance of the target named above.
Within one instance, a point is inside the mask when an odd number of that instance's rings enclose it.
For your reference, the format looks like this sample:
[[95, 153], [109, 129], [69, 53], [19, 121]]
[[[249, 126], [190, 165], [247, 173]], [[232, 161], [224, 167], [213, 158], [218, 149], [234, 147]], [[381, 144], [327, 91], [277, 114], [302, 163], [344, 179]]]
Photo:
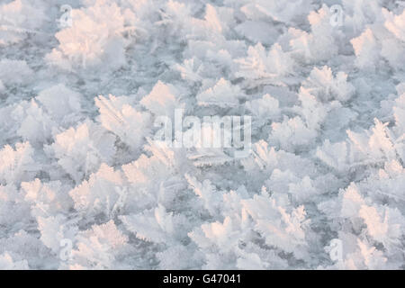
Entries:
[[74, 9], [72, 26], [55, 35], [60, 44], [49, 53], [49, 63], [76, 69], [99, 67], [108, 61], [119, 67], [125, 63], [124, 30], [125, 18], [115, 3], [97, 1], [87, 8]]

